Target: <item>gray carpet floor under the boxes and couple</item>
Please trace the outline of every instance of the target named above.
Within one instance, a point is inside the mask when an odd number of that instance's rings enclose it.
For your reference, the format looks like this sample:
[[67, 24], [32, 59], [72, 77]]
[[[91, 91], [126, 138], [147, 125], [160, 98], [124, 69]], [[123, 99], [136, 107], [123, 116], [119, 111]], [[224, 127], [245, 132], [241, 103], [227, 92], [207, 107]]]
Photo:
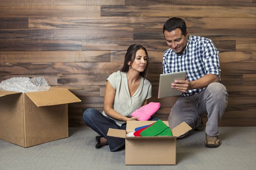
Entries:
[[177, 140], [176, 165], [125, 165], [125, 149], [94, 147], [89, 127], [70, 137], [29, 148], [0, 140], [0, 170], [256, 170], [256, 127], [220, 127], [222, 143], [204, 146], [204, 131]]

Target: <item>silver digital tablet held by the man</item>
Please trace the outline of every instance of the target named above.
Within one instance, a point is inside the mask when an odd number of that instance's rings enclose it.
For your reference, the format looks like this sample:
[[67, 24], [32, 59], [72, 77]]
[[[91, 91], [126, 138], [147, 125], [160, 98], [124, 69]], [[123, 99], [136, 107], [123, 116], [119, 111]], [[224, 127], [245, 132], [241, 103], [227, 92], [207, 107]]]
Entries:
[[181, 91], [172, 88], [172, 82], [175, 80], [185, 80], [186, 71], [180, 71], [175, 73], [160, 74], [158, 99], [170, 96], [180, 96]]

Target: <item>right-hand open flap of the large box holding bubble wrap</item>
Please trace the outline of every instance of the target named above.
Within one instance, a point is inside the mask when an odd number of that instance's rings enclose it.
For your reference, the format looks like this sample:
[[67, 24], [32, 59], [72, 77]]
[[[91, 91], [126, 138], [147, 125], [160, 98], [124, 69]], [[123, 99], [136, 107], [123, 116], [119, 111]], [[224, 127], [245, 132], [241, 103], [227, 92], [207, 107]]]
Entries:
[[27, 92], [25, 94], [38, 107], [81, 102], [66, 88], [50, 88], [49, 91]]

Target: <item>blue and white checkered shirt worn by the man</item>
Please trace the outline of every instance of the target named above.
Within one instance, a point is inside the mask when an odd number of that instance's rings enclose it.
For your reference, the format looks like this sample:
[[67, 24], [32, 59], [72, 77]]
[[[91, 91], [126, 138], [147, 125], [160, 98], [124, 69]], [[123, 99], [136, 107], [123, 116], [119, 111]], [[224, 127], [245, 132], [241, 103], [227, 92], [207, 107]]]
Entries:
[[[186, 71], [188, 81], [200, 79], [206, 74], [221, 75], [218, 50], [212, 40], [198, 36], [188, 36], [188, 43], [182, 54], [176, 54], [171, 48], [163, 54], [163, 74]], [[204, 88], [192, 89], [182, 93], [191, 96]]]

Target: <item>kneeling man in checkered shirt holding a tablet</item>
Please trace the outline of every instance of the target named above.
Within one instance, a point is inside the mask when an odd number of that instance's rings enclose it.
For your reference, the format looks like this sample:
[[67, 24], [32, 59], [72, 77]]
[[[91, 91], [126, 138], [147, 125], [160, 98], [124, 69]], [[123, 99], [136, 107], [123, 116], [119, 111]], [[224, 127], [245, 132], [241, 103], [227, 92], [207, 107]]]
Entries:
[[163, 73], [186, 71], [185, 80], [172, 83], [172, 88], [183, 93], [171, 109], [169, 127], [186, 122], [194, 130], [204, 130], [202, 113], [207, 112], [205, 146], [218, 147], [218, 122], [228, 97], [220, 83], [218, 50], [211, 40], [190, 36], [185, 21], [177, 17], [166, 21], [163, 34], [169, 46], [163, 54]]

